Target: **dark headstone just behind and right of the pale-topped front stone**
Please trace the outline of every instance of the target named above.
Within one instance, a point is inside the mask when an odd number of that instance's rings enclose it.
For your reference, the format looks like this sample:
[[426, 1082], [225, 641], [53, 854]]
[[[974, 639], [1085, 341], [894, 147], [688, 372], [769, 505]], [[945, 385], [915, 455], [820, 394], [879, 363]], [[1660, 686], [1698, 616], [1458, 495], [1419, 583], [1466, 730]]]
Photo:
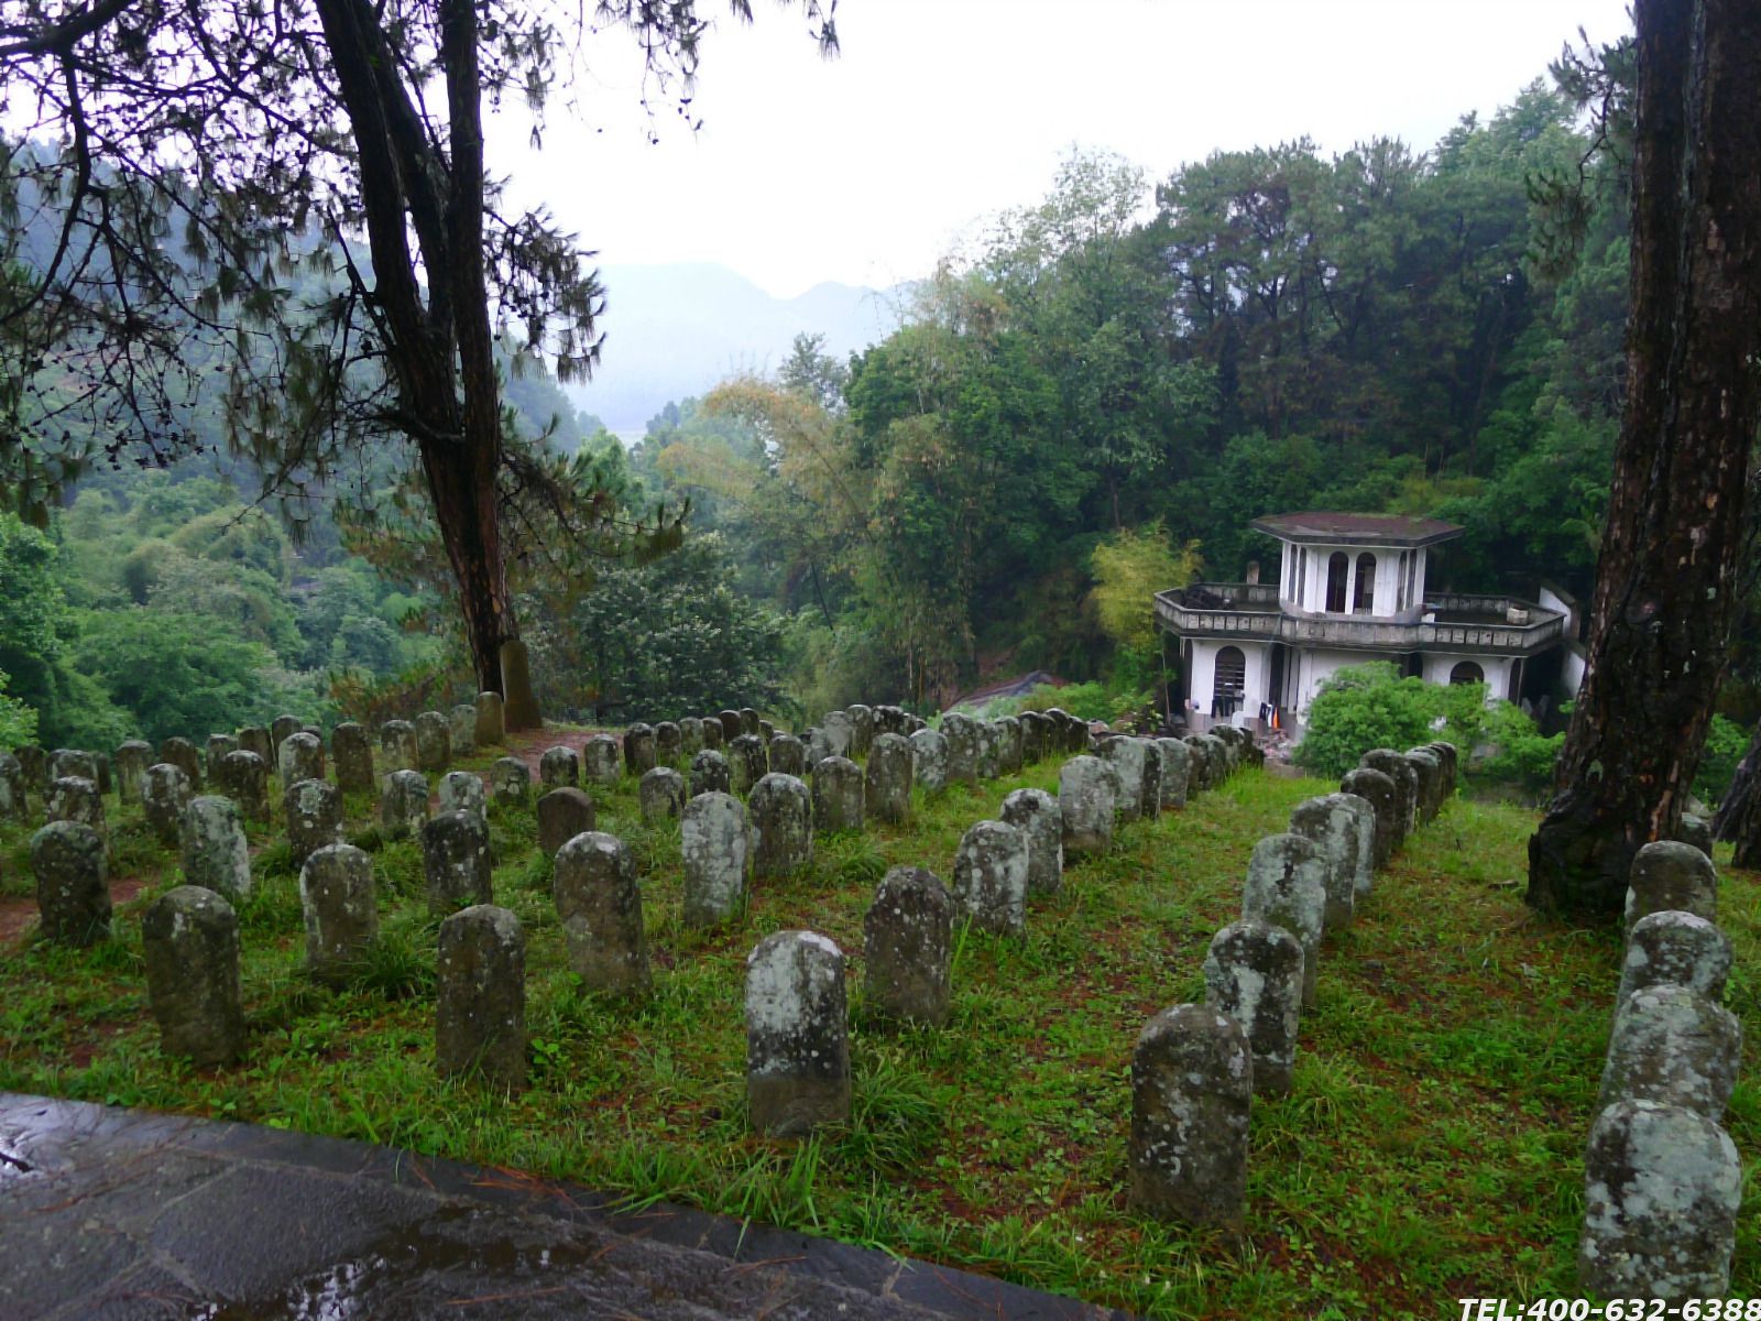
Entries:
[[863, 918], [870, 1011], [935, 1027], [947, 1022], [953, 925], [954, 900], [933, 872], [895, 867], [880, 879]]

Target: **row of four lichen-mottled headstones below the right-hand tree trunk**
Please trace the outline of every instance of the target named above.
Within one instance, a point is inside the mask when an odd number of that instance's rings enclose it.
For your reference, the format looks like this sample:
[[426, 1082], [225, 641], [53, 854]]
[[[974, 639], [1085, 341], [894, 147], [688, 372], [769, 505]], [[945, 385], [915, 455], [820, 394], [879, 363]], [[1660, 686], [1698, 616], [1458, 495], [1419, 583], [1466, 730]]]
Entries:
[[1722, 1127], [1742, 1023], [1719, 1000], [1731, 942], [1719, 875], [1691, 844], [1647, 844], [1627, 877], [1615, 1029], [1583, 1155], [1578, 1279], [1604, 1298], [1729, 1293], [1742, 1162]]

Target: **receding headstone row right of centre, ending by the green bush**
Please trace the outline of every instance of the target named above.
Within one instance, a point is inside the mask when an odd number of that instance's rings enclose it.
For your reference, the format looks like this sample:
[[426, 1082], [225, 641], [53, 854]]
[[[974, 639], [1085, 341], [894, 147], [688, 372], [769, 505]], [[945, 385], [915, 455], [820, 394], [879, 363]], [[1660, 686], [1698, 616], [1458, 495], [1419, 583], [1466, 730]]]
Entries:
[[1131, 1062], [1132, 1203], [1150, 1215], [1240, 1228], [1254, 1094], [1291, 1087], [1303, 1009], [1315, 1004], [1321, 942], [1351, 925], [1405, 837], [1455, 793], [1456, 749], [1375, 749], [1340, 793], [1291, 812], [1254, 845], [1242, 919], [1212, 939], [1205, 1004], [1152, 1018]]

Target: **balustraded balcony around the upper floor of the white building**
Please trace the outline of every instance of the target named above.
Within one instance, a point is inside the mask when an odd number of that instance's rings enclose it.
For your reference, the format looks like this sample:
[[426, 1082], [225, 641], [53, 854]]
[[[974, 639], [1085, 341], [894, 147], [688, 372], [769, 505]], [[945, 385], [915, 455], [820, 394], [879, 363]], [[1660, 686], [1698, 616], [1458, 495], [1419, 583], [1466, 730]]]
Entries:
[[1432, 594], [1405, 618], [1298, 611], [1275, 583], [1194, 583], [1155, 594], [1155, 618], [1182, 638], [1277, 641], [1342, 652], [1493, 652], [1534, 655], [1557, 643], [1566, 616], [1504, 595]]

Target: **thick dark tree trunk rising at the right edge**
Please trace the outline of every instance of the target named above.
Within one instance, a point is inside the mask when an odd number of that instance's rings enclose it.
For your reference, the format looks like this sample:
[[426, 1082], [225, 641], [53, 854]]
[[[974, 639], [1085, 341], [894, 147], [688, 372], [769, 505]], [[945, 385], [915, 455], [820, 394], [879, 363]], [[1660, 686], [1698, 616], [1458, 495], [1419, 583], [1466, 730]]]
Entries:
[[1632, 854], [1671, 837], [1736, 604], [1761, 352], [1761, 5], [1639, 0], [1627, 410], [1588, 673], [1529, 902], [1613, 921]]

